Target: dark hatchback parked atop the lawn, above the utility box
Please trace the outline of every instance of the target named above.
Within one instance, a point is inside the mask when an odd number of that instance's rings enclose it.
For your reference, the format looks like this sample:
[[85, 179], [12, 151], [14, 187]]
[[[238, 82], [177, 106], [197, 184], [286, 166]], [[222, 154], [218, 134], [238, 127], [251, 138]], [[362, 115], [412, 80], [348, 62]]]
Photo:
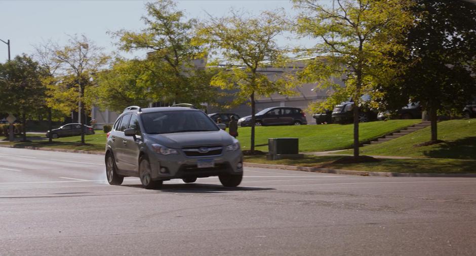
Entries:
[[[275, 106], [268, 107], [255, 115], [255, 126], [260, 125], [304, 125], [306, 115], [298, 107]], [[239, 126], [251, 126], [251, 116], [238, 120]]]

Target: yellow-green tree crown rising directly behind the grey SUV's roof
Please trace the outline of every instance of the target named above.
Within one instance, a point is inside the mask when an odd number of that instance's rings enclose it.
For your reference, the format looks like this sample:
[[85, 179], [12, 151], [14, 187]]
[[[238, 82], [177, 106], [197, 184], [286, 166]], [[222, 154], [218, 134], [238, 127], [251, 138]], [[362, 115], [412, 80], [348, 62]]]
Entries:
[[[210, 75], [205, 69], [206, 52], [203, 47], [191, 44], [196, 20], [185, 20], [184, 13], [177, 10], [171, 0], [145, 6], [148, 16], [142, 19], [146, 28], [140, 32], [112, 33], [120, 39], [118, 44], [126, 52], [150, 51], [140, 62], [143, 72], [130, 71], [142, 79], [133, 85], [138, 88], [130, 87], [129, 93], [147, 89], [151, 101], [192, 104], [215, 101], [216, 92], [210, 87]], [[116, 64], [115, 68], [124, 71], [127, 62]]]

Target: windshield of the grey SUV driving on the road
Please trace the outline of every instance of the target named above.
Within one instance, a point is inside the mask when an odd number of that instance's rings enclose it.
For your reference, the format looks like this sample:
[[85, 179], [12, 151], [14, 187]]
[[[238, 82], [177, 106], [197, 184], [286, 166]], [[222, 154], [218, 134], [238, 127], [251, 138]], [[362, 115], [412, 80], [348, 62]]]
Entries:
[[218, 131], [219, 128], [201, 111], [164, 111], [141, 115], [145, 133]]

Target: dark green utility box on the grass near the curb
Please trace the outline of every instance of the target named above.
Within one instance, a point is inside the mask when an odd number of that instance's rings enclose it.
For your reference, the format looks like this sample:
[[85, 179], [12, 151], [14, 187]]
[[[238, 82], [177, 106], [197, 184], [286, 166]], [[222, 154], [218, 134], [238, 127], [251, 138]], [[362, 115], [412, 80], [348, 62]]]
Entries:
[[299, 154], [298, 138], [269, 138], [268, 139], [268, 160], [283, 158], [302, 158]]

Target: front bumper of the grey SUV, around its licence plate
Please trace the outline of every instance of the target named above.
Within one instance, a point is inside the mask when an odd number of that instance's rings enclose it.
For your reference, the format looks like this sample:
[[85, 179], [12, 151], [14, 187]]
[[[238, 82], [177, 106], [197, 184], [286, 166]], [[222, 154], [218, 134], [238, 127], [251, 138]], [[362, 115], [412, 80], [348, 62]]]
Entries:
[[[214, 167], [198, 168], [198, 160], [213, 159]], [[243, 173], [243, 154], [240, 150], [223, 151], [220, 156], [211, 157], [187, 157], [183, 152], [173, 155], [149, 154], [152, 179], [168, 180], [185, 177], [209, 177], [220, 174]], [[241, 167], [239, 167], [241, 166]], [[165, 171], [164, 169], [165, 168]]]

